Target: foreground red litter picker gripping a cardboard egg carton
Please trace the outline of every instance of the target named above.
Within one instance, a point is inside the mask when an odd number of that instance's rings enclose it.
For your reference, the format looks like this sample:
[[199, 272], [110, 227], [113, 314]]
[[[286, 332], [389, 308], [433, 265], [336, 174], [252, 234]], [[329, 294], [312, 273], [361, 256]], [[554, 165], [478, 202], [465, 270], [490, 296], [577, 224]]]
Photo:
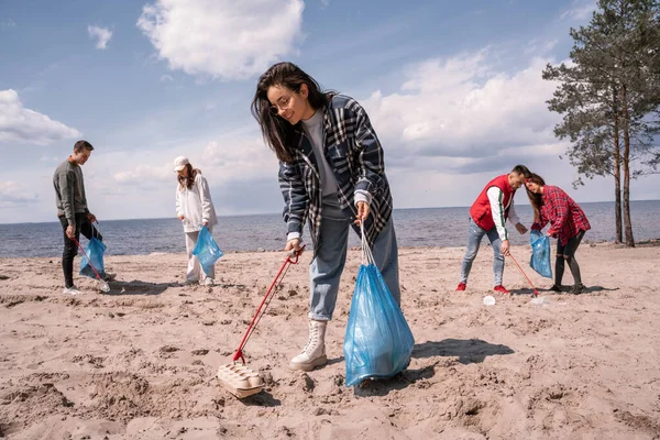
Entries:
[[[266, 309], [268, 308], [268, 305], [271, 304], [275, 292], [282, 284], [284, 276], [288, 272], [292, 264], [298, 264], [298, 257], [300, 256], [304, 250], [305, 246], [302, 246], [300, 251], [292, 251], [287, 255], [286, 260], [284, 261], [284, 264], [279, 268], [279, 272], [277, 272], [275, 279], [273, 279], [273, 283], [271, 283], [271, 287], [268, 287], [266, 295], [264, 295], [264, 298], [258, 305], [256, 312], [254, 314], [254, 317], [250, 322], [250, 326], [248, 326], [248, 330], [245, 330], [245, 334], [243, 334], [243, 339], [241, 340], [239, 348], [233, 354], [231, 363], [220, 365], [220, 367], [218, 369], [218, 380], [220, 381], [220, 384], [238, 398], [252, 396], [253, 394], [260, 393], [262, 389], [264, 389], [264, 382], [262, 381], [258, 373], [245, 366], [245, 356], [243, 354], [243, 349], [245, 348], [245, 344], [252, 337], [256, 324], [258, 324], [262, 317], [266, 312]], [[241, 361], [240, 364], [237, 363], [237, 361], [239, 360]]]

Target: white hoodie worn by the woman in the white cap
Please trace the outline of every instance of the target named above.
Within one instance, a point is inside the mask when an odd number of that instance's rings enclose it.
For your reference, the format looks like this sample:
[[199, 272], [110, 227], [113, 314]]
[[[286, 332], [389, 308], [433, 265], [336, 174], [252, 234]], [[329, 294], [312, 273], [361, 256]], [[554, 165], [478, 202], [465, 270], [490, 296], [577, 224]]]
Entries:
[[209, 227], [218, 224], [218, 217], [216, 217], [216, 208], [211, 200], [209, 184], [201, 173], [197, 173], [195, 184], [193, 184], [190, 189], [186, 187], [182, 188], [180, 185], [177, 185], [176, 215], [177, 217], [184, 216], [185, 232], [201, 230], [205, 221], [209, 223]]

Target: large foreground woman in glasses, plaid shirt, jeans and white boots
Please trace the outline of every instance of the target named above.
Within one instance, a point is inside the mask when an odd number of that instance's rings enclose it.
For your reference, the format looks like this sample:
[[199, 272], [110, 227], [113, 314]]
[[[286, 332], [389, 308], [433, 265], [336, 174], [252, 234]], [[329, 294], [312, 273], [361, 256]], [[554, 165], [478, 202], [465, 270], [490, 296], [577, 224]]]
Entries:
[[261, 76], [252, 114], [279, 160], [285, 251], [300, 251], [302, 227], [309, 220], [314, 245], [309, 341], [289, 366], [310, 371], [328, 362], [326, 326], [337, 302], [350, 226], [360, 234], [360, 223], [364, 223], [375, 263], [400, 301], [383, 148], [355, 100], [321, 91], [314, 78], [292, 63], [275, 64]]

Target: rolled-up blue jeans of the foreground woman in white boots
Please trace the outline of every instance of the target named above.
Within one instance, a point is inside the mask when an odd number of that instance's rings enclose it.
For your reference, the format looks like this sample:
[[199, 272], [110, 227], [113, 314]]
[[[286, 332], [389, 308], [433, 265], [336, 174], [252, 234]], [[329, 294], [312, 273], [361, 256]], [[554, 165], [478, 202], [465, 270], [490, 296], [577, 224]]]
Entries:
[[[326, 209], [326, 206], [323, 206]], [[309, 266], [310, 300], [309, 318], [329, 321], [334, 312], [339, 279], [346, 262], [349, 246], [349, 220], [321, 219], [317, 255]], [[392, 218], [381, 231], [372, 249], [376, 266], [383, 274], [392, 296], [400, 306], [402, 292], [398, 277], [398, 249]]]

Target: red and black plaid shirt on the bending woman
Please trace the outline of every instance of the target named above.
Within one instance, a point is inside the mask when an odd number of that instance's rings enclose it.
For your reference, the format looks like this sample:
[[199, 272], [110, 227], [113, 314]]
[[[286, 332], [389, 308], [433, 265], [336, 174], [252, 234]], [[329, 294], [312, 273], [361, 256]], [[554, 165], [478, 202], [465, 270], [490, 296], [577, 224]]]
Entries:
[[540, 215], [540, 221], [532, 224], [532, 229], [543, 229], [550, 222], [552, 226], [548, 229], [548, 235], [557, 237], [561, 245], [566, 244], [569, 239], [578, 235], [580, 231], [591, 229], [582, 208], [557, 186], [543, 187], [543, 206]]

